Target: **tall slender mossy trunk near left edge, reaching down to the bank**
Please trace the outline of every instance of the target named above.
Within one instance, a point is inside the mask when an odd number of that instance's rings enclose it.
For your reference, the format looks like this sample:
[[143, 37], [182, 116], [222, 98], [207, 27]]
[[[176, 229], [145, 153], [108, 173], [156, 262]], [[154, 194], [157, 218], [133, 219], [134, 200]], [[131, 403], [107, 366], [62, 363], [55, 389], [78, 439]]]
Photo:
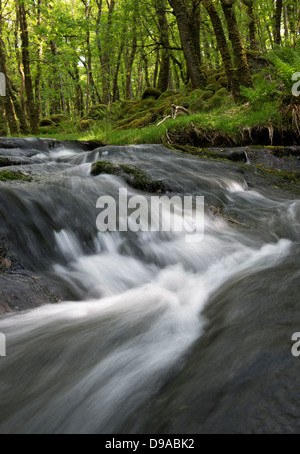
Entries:
[[24, 0], [18, 1], [19, 20], [21, 29], [21, 42], [22, 42], [22, 60], [25, 74], [25, 92], [26, 92], [26, 105], [29, 116], [29, 123], [32, 134], [39, 133], [39, 121], [36, 106], [34, 103], [32, 77], [30, 71], [30, 55], [29, 55], [29, 35], [27, 27], [27, 14], [25, 10]]

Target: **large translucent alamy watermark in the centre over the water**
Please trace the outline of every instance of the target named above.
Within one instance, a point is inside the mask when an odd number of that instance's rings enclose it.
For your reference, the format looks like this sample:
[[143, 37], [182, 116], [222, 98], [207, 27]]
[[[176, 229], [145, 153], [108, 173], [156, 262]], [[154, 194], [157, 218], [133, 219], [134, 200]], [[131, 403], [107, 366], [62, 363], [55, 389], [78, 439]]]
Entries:
[[119, 199], [105, 195], [98, 199], [100, 232], [181, 232], [189, 243], [204, 238], [204, 197], [135, 195], [125, 188]]

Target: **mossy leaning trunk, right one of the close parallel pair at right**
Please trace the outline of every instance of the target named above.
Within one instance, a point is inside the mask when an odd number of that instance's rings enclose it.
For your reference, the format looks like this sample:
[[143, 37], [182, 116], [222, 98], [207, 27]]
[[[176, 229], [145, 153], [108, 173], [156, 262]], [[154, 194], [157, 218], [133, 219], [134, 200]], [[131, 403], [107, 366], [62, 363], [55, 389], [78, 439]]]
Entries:
[[221, 0], [221, 4], [227, 23], [229, 38], [233, 47], [235, 64], [237, 67], [240, 84], [245, 87], [253, 88], [247, 54], [242, 42], [236, 14], [234, 11], [235, 1]]

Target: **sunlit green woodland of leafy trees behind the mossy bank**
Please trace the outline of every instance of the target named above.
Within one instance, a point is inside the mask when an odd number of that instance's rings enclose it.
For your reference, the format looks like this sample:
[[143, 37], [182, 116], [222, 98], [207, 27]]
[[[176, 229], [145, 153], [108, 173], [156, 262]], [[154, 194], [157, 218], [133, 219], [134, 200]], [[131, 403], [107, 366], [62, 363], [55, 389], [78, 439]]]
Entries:
[[298, 0], [0, 0], [0, 135], [101, 119], [147, 88], [206, 90], [216, 75], [239, 102], [271, 64], [284, 90], [299, 28]]

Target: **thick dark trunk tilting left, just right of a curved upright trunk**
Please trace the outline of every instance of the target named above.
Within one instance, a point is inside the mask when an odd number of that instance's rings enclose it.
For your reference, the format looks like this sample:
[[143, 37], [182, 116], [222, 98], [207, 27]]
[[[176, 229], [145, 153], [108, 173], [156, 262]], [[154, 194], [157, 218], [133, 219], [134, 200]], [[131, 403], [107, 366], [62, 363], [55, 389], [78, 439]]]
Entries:
[[176, 16], [180, 40], [192, 86], [194, 89], [203, 89], [206, 87], [206, 75], [201, 67], [201, 61], [195, 47], [186, 4], [183, 0], [169, 0], [169, 3]]

